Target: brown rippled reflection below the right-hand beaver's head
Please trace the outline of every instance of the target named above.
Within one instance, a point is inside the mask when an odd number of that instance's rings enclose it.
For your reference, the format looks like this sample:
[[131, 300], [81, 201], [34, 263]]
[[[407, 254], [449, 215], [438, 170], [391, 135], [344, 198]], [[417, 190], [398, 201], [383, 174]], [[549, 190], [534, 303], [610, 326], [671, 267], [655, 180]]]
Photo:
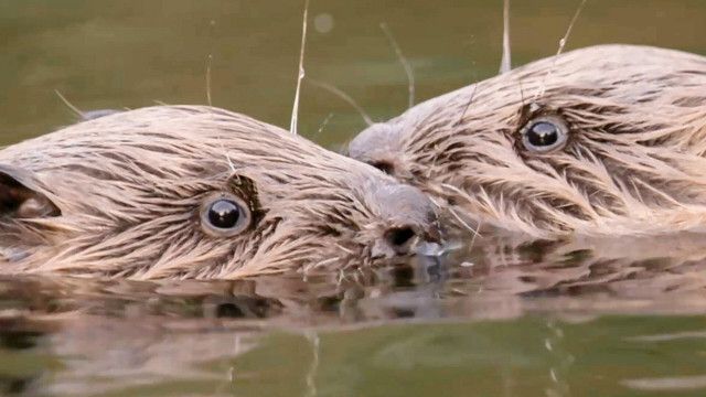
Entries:
[[706, 249], [699, 234], [479, 242], [480, 257], [472, 273], [478, 288], [485, 290], [535, 297], [603, 293], [666, 299], [678, 294], [683, 299], [702, 296], [706, 287]]

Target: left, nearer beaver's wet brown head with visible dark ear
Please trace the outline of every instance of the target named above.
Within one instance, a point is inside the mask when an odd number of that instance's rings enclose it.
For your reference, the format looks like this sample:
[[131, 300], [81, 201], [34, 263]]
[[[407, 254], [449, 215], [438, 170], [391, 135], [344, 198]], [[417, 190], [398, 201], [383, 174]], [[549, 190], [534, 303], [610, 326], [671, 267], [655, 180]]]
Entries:
[[210, 107], [119, 112], [0, 151], [0, 271], [236, 278], [438, 240], [415, 187]]

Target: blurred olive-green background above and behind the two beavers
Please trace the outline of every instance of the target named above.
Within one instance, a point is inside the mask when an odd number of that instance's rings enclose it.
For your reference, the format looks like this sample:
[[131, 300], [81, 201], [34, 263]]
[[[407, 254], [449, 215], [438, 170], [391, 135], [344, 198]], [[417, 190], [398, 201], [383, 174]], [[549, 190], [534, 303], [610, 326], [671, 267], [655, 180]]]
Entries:
[[[514, 1], [513, 64], [556, 52], [580, 1]], [[303, 0], [0, 1], [0, 143], [71, 124], [82, 110], [157, 101], [213, 105], [288, 128]], [[414, 67], [417, 101], [493, 75], [502, 0], [312, 0], [307, 76], [350, 94], [376, 120], [402, 112], [407, 83], [379, 28]], [[706, 52], [706, 2], [588, 1], [567, 49], [639, 43]], [[323, 131], [318, 133], [324, 119]], [[364, 127], [351, 106], [304, 84], [300, 132], [327, 146]]]

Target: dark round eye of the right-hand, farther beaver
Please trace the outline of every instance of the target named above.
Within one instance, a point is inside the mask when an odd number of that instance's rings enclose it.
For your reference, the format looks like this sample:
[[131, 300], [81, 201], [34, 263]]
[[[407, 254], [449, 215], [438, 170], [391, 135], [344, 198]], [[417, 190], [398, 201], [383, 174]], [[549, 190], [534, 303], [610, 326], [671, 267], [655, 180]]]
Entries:
[[522, 129], [522, 144], [530, 151], [547, 153], [564, 147], [568, 130], [566, 122], [558, 117], [537, 117]]

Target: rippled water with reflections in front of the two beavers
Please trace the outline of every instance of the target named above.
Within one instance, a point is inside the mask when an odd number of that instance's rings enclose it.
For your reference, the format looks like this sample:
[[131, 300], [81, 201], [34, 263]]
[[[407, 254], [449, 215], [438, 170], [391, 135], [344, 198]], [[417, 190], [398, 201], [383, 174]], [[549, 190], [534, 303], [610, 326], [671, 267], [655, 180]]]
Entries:
[[461, 378], [507, 396], [581, 395], [584, 383], [704, 387], [706, 323], [696, 315], [706, 312], [706, 248], [696, 236], [616, 249], [477, 242], [456, 254], [472, 266], [449, 258], [216, 282], [2, 279], [0, 387], [71, 396], [376, 395], [372, 385], [389, 379], [415, 395], [432, 383], [456, 395], [462, 387], [441, 379]]

